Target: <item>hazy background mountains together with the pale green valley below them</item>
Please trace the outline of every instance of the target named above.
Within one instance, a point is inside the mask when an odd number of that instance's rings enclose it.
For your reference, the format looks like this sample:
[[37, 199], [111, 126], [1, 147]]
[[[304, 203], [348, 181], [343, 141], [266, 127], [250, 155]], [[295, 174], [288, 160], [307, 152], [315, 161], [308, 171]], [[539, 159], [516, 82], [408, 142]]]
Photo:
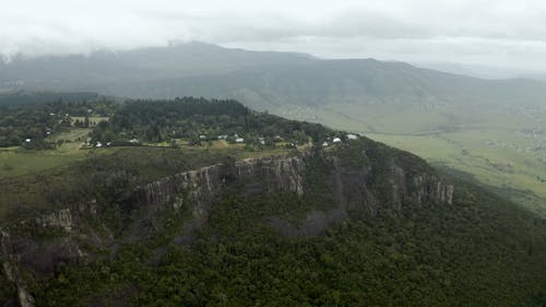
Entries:
[[134, 98], [234, 98], [253, 109], [365, 133], [468, 173], [546, 214], [544, 82], [191, 43], [14, 59], [0, 66], [0, 84]]

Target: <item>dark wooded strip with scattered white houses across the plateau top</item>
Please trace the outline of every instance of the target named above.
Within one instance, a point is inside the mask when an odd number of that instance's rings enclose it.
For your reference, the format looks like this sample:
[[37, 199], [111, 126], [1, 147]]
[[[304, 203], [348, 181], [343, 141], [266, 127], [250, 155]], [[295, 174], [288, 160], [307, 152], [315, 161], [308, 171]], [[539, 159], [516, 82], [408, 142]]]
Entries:
[[[93, 117], [109, 117], [96, 121]], [[257, 113], [235, 101], [183, 97], [174, 101], [63, 102], [0, 107], [0, 146], [47, 149], [47, 135], [62, 128], [93, 128], [92, 142], [200, 143], [225, 139], [247, 144], [319, 142], [335, 133], [321, 125]]]

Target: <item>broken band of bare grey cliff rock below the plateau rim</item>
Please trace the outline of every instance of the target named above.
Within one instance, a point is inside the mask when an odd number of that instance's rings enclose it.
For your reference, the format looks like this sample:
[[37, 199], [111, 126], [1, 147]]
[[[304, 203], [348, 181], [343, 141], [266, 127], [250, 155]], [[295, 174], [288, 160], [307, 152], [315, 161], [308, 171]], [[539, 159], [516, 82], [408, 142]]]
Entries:
[[[232, 165], [211, 165], [170, 176], [138, 187], [122, 203], [122, 213], [145, 212], [150, 217], [159, 211], [190, 208], [192, 220], [198, 225], [206, 222], [211, 205], [221, 193], [234, 182], [242, 185], [245, 194], [264, 192], [306, 192], [308, 156], [260, 157], [234, 162]], [[452, 204], [453, 186], [442, 182], [431, 174], [406, 175], [396, 165], [391, 165], [388, 187], [378, 189], [378, 178], [372, 168], [353, 169], [341, 166], [336, 156], [323, 156], [330, 165], [328, 186], [337, 202], [337, 209], [368, 210], [393, 205], [401, 209], [404, 203], [431, 202]], [[384, 194], [382, 194], [384, 193]], [[385, 194], [390, 197], [385, 198]], [[49, 214], [21, 222], [32, 228], [58, 228], [70, 233], [81, 226], [83, 220], [99, 215], [99, 204], [91, 201], [76, 204]]]

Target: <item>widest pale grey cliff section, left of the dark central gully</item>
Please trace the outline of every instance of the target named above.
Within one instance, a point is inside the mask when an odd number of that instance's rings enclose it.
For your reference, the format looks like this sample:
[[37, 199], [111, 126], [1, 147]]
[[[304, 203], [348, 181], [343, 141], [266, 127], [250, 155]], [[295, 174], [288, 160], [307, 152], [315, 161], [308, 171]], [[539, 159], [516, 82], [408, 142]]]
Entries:
[[151, 208], [152, 211], [171, 204], [179, 209], [185, 202], [194, 206], [195, 217], [206, 215], [207, 206], [230, 180], [252, 185], [259, 182], [261, 191], [304, 193], [304, 158], [259, 157], [235, 162], [235, 165], [211, 165], [197, 170], [177, 174], [136, 188], [130, 200], [132, 208]]

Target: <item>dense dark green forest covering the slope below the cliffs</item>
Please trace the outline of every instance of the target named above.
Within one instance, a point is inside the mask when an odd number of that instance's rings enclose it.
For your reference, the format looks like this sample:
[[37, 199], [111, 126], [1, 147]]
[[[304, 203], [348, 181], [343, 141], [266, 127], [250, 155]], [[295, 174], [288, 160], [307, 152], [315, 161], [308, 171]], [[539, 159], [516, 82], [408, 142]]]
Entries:
[[459, 187], [467, 196], [454, 206], [354, 212], [327, 234], [299, 239], [276, 234], [263, 219], [297, 216], [308, 204], [290, 194], [241, 197], [234, 190], [214, 206], [194, 244], [173, 245], [154, 263], [164, 250], [159, 238], [169, 236], [157, 229], [156, 237], [123, 246], [111, 260], [63, 268], [35, 288], [37, 302], [546, 306], [545, 222], [487, 192]]

